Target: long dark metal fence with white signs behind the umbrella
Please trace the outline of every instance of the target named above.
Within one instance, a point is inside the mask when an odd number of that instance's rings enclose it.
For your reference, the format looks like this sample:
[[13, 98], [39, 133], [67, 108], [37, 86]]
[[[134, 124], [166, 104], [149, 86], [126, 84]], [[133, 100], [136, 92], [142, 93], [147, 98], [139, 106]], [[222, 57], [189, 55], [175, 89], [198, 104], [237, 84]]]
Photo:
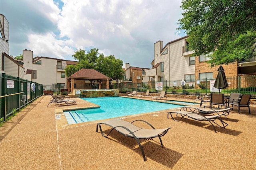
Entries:
[[[169, 80], [163, 81], [163, 90], [168, 94], [186, 94], [186, 95], [206, 95], [211, 92], [218, 93], [218, 89], [213, 88], [215, 78], [201, 78], [190, 80]], [[241, 94], [252, 94], [252, 98], [256, 97], [256, 76], [241, 75], [236, 77], [228, 77], [228, 88], [222, 89], [220, 92], [225, 96], [229, 96], [231, 92], [239, 92]], [[182, 84], [183, 83], [183, 84]], [[128, 83], [122, 82], [118, 84], [118, 88], [128, 88], [145, 92], [150, 89], [150, 92], [159, 92], [157, 84], [159, 82], [149, 81], [147, 83]]]

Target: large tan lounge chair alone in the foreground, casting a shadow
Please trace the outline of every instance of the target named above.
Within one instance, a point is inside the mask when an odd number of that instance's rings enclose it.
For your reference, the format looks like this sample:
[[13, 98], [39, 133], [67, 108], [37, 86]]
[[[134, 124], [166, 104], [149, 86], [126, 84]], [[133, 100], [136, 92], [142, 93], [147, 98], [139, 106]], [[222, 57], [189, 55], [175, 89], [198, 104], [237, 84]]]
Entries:
[[[148, 123], [144, 120], [135, 120], [135, 121], [143, 121], [143, 122], [147, 123], [148, 125], [150, 125], [150, 123]], [[146, 157], [145, 157], [145, 154], [144, 154], [144, 151], [140, 144], [139, 139], [148, 140], [148, 139], [158, 137], [160, 139], [161, 146], [164, 147], [160, 137], [164, 136], [167, 133], [167, 131], [170, 129], [170, 127], [165, 128], [165, 129], [155, 129], [152, 125], [150, 125], [152, 127], [152, 129], [144, 129], [144, 128], [137, 127], [134, 124], [132, 124], [135, 121], [132, 121], [130, 123], [130, 122], [124, 121], [122, 119], [111, 119], [108, 121], [98, 123], [96, 132], [98, 132], [98, 128], [100, 128], [100, 132], [101, 132], [102, 136], [107, 137], [115, 129], [116, 131], [120, 132], [122, 135], [134, 138], [140, 147], [144, 161], [146, 161]], [[112, 127], [110, 132], [106, 135], [102, 131], [102, 128], [101, 128], [102, 124]]]

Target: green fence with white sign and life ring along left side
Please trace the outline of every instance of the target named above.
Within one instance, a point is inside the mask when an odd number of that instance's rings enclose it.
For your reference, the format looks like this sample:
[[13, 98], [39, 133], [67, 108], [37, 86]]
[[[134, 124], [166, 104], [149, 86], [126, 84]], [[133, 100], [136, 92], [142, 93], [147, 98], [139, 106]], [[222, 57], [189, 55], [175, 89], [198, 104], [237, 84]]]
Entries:
[[0, 74], [0, 120], [6, 120], [13, 111], [20, 111], [42, 94], [42, 84]]

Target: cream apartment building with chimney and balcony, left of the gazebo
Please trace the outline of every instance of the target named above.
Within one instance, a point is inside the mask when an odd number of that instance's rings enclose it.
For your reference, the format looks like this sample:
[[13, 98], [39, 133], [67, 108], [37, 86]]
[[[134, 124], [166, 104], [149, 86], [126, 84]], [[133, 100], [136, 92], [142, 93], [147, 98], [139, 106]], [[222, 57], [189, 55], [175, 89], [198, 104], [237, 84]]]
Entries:
[[[66, 88], [66, 74], [64, 69], [70, 64], [76, 65], [77, 61], [68, 61], [50, 57], [33, 57], [33, 51], [23, 50], [23, 66], [25, 78], [39, 84], [44, 84], [44, 90], [50, 85], [57, 84], [60, 88]], [[53, 88], [54, 89], [54, 88]]]

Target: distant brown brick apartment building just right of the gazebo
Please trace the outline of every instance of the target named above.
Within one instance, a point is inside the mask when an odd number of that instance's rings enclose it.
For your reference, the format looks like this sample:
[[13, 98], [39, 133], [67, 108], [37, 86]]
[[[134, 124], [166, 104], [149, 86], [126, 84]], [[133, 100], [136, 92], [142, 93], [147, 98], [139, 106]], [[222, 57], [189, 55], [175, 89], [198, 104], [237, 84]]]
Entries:
[[132, 84], [132, 87], [135, 88], [140, 88], [142, 83], [148, 83], [149, 79], [146, 77], [146, 70], [149, 68], [130, 66], [130, 63], [125, 63], [124, 66], [123, 70], [125, 72], [123, 74], [124, 79], [122, 82]]

